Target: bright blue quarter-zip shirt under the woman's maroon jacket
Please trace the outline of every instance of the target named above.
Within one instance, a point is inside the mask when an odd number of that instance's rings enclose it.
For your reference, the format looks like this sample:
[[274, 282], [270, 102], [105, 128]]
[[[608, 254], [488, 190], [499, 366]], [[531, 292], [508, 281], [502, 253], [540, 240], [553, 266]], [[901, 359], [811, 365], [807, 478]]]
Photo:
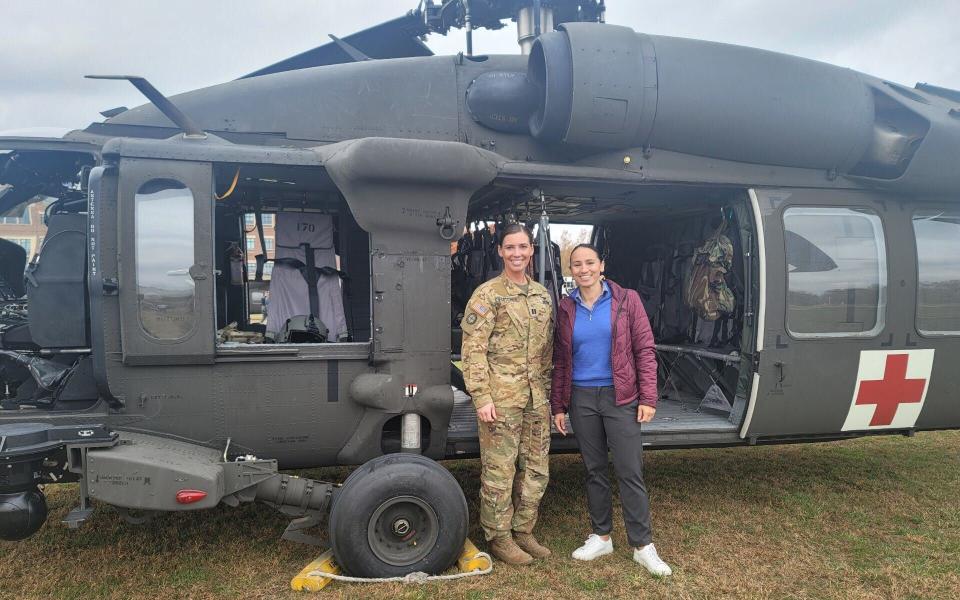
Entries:
[[613, 385], [613, 365], [610, 362], [613, 295], [606, 281], [601, 285], [603, 291], [593, 308], [584, 306], [579, 288], [570, 294], [577, 305], [573, 322], [573, 384], [581, 387]]

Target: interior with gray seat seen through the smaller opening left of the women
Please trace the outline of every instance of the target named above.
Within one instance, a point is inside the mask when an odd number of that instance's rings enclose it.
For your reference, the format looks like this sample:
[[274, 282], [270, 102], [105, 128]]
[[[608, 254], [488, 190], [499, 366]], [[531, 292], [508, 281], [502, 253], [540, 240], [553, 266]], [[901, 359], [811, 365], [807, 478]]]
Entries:
[[216, 177], [218, 353], [369, 343], [369, 236], [323, 171], [221, 165]]

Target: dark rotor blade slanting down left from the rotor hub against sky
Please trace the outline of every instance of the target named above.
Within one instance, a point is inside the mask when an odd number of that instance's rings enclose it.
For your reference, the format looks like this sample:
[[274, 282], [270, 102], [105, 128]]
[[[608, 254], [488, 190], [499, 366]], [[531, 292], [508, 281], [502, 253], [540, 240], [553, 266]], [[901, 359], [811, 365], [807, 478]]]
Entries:
[[[398, 19], [393, 19], [392, 21], [375, 25], [369, 29], [352, 33], [344, 37], [342, 41], [371, 59], [432, 56], [433, 52], [420, 41], [420, 36], [428, 32], [429, 29], [423, 23], [420, 14], [410, 12]], [[259, 77], [260, 75], [269, 75], [271, 73], [282, 73], [284, 71], [308, 69], [310, 67], [323, 65], [336, 65], [354, 62], [355, 60], [356, 59], [337, 42], [330, 42], [329, 44], [324, 44], [313, 50], [307, 50], [302, 54], [264, 67], [259, 71], [254, 71], [249, 75], [244, 75], [241, 79]]]

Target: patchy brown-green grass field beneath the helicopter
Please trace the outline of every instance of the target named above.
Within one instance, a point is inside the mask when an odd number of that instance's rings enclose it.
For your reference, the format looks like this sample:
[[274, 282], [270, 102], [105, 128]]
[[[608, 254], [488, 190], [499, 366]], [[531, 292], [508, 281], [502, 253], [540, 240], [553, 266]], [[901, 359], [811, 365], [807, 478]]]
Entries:
[[[615, 553], [569, 558], [588, 531], [581, 464], [555, 456], [538, 533], [556, 558], [500, 563], [486, 577], [425, 586], [334, 583], [330, 598], [960, 598], [960, 432], [850, 442], [651, 452], [664, 580]], [[447, 463], [476, 523], [477, 461]], [[342, 480], [345, 469], [310, 471]], [[59, 520], [73, 486], [48, 489], [50, 520], [0, 544], [4, 598], [285, 598], [317, 550], [279, 540], [264, 506], [166, 516], [135, 527], [99, 507], [80, 531]], [[615, 523], [622, 524], [618, 512]]]

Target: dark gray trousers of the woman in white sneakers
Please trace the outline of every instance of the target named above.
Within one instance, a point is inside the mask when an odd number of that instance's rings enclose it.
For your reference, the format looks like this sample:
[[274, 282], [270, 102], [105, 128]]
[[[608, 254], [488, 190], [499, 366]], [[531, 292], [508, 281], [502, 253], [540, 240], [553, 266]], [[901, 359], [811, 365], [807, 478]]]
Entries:
[[640, 423], [637, 423], [637, 402], [617, 406], [612, 386], [573, 386], [570, 420], [587, 472], [587, 506], [593, 532], [609, 535], [613, 529], [610, 478], [607, 476], [609, 450], [620, 484], [627, 541], [634, 547], [646, 546], [651, 541], [650, 501], [643, 483], [643, 446], [640, 443]]

